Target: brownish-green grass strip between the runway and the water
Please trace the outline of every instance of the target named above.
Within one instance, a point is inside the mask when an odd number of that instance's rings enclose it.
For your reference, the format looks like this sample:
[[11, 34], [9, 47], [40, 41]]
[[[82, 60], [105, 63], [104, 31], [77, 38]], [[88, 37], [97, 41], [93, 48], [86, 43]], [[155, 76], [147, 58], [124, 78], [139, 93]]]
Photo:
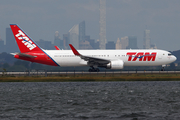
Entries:
[[100, 81], [180, 81], [179, 74], [130, 74], [84, 76], [1, 76], [0, 82], [100, 82]]

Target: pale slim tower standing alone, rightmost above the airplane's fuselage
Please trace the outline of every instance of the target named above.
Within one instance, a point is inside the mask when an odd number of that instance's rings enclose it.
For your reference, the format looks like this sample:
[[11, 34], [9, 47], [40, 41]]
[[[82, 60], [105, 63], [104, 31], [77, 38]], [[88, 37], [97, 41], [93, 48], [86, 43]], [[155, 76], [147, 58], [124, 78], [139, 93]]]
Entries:
[[151, 38], [150, 38], [150, 30], [145, 30], [144, 31], [144, 43], [143, 43], [143, 48], [144, 49], [150, 49], [151, 48]]

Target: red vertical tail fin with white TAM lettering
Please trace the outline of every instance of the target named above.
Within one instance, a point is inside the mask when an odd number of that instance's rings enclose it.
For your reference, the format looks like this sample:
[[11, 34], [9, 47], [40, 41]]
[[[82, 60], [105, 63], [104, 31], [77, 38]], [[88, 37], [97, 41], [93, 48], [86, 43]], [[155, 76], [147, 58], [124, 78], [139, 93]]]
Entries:
[[23, 32], [23, 30], [20, 29], [16, 24], [11, 24], [10, 27], [21, 53], [42, 51], [41, 48], [38, 47], [38, 45], [31, 40], [31, 38], [29, 38], [27, 34]]

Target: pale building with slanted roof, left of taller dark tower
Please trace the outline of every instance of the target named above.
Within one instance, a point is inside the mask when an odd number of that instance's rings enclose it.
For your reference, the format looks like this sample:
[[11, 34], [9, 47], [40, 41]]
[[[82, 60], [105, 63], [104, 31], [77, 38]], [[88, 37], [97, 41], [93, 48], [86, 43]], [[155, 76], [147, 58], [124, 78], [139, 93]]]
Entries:
[[68, 32], [69, 43], [79, 49], [79, 25], [74, 25]]

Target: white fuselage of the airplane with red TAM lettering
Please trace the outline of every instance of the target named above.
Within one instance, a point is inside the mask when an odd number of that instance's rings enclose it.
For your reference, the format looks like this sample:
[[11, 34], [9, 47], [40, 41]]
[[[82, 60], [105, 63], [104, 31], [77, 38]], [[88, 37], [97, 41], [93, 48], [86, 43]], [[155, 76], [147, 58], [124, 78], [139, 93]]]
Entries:
[[[73, 54], [71, 50], [44, 50], [59, 66], [86, 66], [87, 61]], [[158, 66], [176, 60], [170, 52], [158, 49], [134, 50], [78, 50], [85, 56], [109, 61], [122, 60], [124, 66]], [[152, 55], [153, 54], [153, 55]]]

